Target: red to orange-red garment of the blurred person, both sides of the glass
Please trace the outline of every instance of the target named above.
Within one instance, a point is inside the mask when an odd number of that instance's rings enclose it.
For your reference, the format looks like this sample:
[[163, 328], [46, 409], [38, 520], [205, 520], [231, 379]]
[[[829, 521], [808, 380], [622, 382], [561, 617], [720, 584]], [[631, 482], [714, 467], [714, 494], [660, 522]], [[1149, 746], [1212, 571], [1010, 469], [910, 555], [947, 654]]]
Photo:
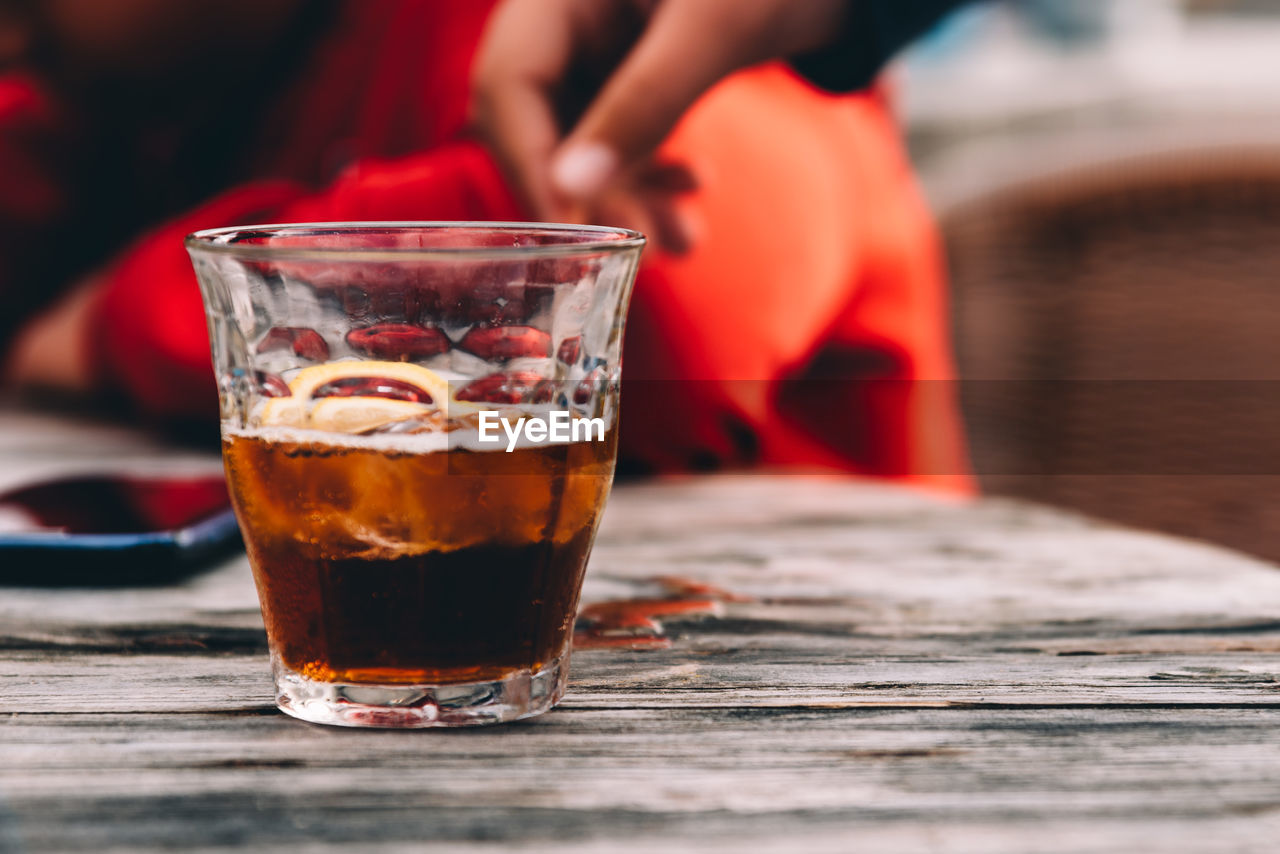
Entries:
[[[239, 186], [145, 233], [111, 266], [96, 303], [100, 378], [145, 411], [215, 411], [183, 234], [250, 222], [522, 219], [488, 154], [457, 141], [489, 4], [362, 9], [346, 4], [294, 83], [268, 100], [260, 138], [233, 164]], [[782, 67], [745, 72], [694, 108], [666, 154], [699, 175], [682, 204], [701, 233], [685, 257], [646, 255], [627, 332], [622, 457], [654, 470], [803, 466], [968, 489], [938, 246], [881, 99], [822, 93]]]

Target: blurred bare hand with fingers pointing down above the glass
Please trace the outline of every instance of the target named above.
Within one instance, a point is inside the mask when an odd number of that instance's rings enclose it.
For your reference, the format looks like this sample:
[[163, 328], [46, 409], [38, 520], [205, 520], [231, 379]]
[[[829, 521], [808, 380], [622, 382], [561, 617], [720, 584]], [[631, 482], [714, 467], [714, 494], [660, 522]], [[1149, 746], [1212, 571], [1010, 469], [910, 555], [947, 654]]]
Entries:
[[475, 67], [472, 114], [532, 213], [689, 245], [695, 184], [655, 151], [727, 74], [826, 46], [849, 0], [504, 0]]

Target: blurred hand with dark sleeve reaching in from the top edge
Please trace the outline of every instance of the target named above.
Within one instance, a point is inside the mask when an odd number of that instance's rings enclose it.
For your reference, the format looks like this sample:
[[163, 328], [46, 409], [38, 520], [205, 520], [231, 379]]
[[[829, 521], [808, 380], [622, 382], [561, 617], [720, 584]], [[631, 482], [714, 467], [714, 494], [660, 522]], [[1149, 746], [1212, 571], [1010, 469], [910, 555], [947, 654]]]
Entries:
[[733, 72], [782, 59], [826, 90], [865, 90], [969, 1], [506, 0], [477, 61], [475, 111], [535, 213], [556, 216], [632, 189]]

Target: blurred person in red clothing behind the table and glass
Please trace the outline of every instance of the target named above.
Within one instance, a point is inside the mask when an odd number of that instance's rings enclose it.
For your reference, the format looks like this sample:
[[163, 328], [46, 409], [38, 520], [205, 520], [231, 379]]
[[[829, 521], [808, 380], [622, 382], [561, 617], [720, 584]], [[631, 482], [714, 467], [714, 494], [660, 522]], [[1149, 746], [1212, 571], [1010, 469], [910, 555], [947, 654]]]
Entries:
[[[512, 157], [522, 134], [554, 143], [568, 124], [548, 117], [582, 114], [591, 88], [504, 97], [495, 52], [559, 50], [549, 73], [585, 47], [608, 69], [607, 49], [646, 32], [655, 5], [580, 4], [603, 29], [570, 44], [545, 27], [513, 38], [524, 23], [554, 27], [552, 0], [504, 4], [493, 20], [489, 1], [0, 0], [9, 380], [212, 419], [183, 234], [559, 210], [655, 237], [627, 335], [623, 467], [786, 465], [965, 489], [937, 239], [882, 91], [832, 95], [777, 63], [717, 83], [772, 55], [735, 52], [699, 78], [703, 97], [664, 101], [645, 137], [660, 151], [625, 182], [562, 205], [541, 192], [541, 166]], [[486, 26], [476, 104], [497, 161], [467, 134]], [[817, 50], [814, 32], [782, 47]], [[689, 60], [718, 54], [701, 36], [641, 82], [687, 93]], [[831, 67], [810, 59], [812, 77]]]

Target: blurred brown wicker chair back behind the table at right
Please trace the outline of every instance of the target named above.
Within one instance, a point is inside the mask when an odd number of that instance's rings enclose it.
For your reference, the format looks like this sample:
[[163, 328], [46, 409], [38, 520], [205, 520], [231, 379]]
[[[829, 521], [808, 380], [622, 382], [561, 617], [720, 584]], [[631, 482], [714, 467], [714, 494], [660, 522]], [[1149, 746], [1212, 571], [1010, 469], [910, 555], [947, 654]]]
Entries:
[[1096, 163], [942, 225], [988, 493], [1280, 561], [1280, 146]]

